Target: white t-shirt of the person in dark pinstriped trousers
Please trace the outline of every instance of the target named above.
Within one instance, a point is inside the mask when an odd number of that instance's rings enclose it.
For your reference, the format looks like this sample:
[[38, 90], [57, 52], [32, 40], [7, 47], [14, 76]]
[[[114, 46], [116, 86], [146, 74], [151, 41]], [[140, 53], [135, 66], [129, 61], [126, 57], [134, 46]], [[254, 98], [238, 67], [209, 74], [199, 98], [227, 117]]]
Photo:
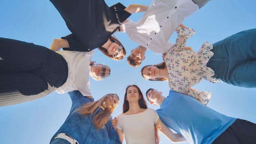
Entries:
[[91, 70], [90, 60], [95, 52], [87, 53], [81, 51], [56, 51], [61, 54], [68, 66], [67, 81], [59, 87], [57, 93], [67, 93], [79, 90], [84, 96], [92, 96], [89, 81]]

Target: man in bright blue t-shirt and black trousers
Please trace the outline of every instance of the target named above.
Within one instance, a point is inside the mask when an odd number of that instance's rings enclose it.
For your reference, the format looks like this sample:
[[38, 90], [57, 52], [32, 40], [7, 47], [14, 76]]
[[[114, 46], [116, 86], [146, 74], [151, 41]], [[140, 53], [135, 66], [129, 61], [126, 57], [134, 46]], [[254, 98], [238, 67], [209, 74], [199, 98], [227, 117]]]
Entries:
[[150, 88], [146, 92], [161, 120], [191, 144], [255, 144], [256, 124], [221, 114], [194, 98], [174, 91], [168, 97]]

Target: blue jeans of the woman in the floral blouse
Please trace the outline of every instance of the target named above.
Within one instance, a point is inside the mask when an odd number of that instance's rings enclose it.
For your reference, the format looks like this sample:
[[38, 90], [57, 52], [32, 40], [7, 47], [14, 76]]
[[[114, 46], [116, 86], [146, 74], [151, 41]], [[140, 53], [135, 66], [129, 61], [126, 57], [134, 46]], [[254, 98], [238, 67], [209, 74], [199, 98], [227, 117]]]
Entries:
[[207, 67], [214, 77], [234, 86], [256, 88], [256, 28], [244, 30], [213, 44]]

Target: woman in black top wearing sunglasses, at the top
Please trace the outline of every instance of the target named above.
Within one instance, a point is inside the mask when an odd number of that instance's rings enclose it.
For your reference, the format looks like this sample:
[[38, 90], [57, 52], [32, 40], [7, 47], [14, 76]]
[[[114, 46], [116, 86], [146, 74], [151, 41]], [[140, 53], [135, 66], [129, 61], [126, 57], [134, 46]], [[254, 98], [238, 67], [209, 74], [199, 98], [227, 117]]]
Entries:
[[123, 6], [117, 3], [108, 7], [104, 0], [50, 0], [61, 14], [70, 35], [54, 39], [50, 49], [92, 51], [98, 48], [109, 58], [121, 60], [126, 50], [112, 36], [131, 13], [144, 12], [147, 6]]

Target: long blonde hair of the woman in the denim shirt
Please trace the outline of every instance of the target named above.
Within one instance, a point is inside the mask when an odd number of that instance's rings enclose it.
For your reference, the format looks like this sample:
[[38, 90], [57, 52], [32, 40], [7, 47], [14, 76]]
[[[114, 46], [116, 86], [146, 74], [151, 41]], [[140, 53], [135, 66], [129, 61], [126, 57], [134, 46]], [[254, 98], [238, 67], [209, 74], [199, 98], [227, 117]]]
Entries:
[[116, 108], [116, 106], [119, 104], [119, 97], [116, 93], [109, 93], [100, 98], [100, 100], [94, 101], [94, 102], [89, 102], [77, 109], [79, 114], [86, 115], [86, 116], [91, 116], [95, 114], [95, 112], [98, 111], [98, 109], [102, 106], [102, 104], [107, 100], [109, 97], [112, 95], [116, 96], [116, 103], [112, 107], [107, 107], [105, 109], [102, 109], [97, 115], [93, 117], [93, 124], [96, 129], [99, 128], [104, 128], [106, 123], [109, 121], [109, 118]]

